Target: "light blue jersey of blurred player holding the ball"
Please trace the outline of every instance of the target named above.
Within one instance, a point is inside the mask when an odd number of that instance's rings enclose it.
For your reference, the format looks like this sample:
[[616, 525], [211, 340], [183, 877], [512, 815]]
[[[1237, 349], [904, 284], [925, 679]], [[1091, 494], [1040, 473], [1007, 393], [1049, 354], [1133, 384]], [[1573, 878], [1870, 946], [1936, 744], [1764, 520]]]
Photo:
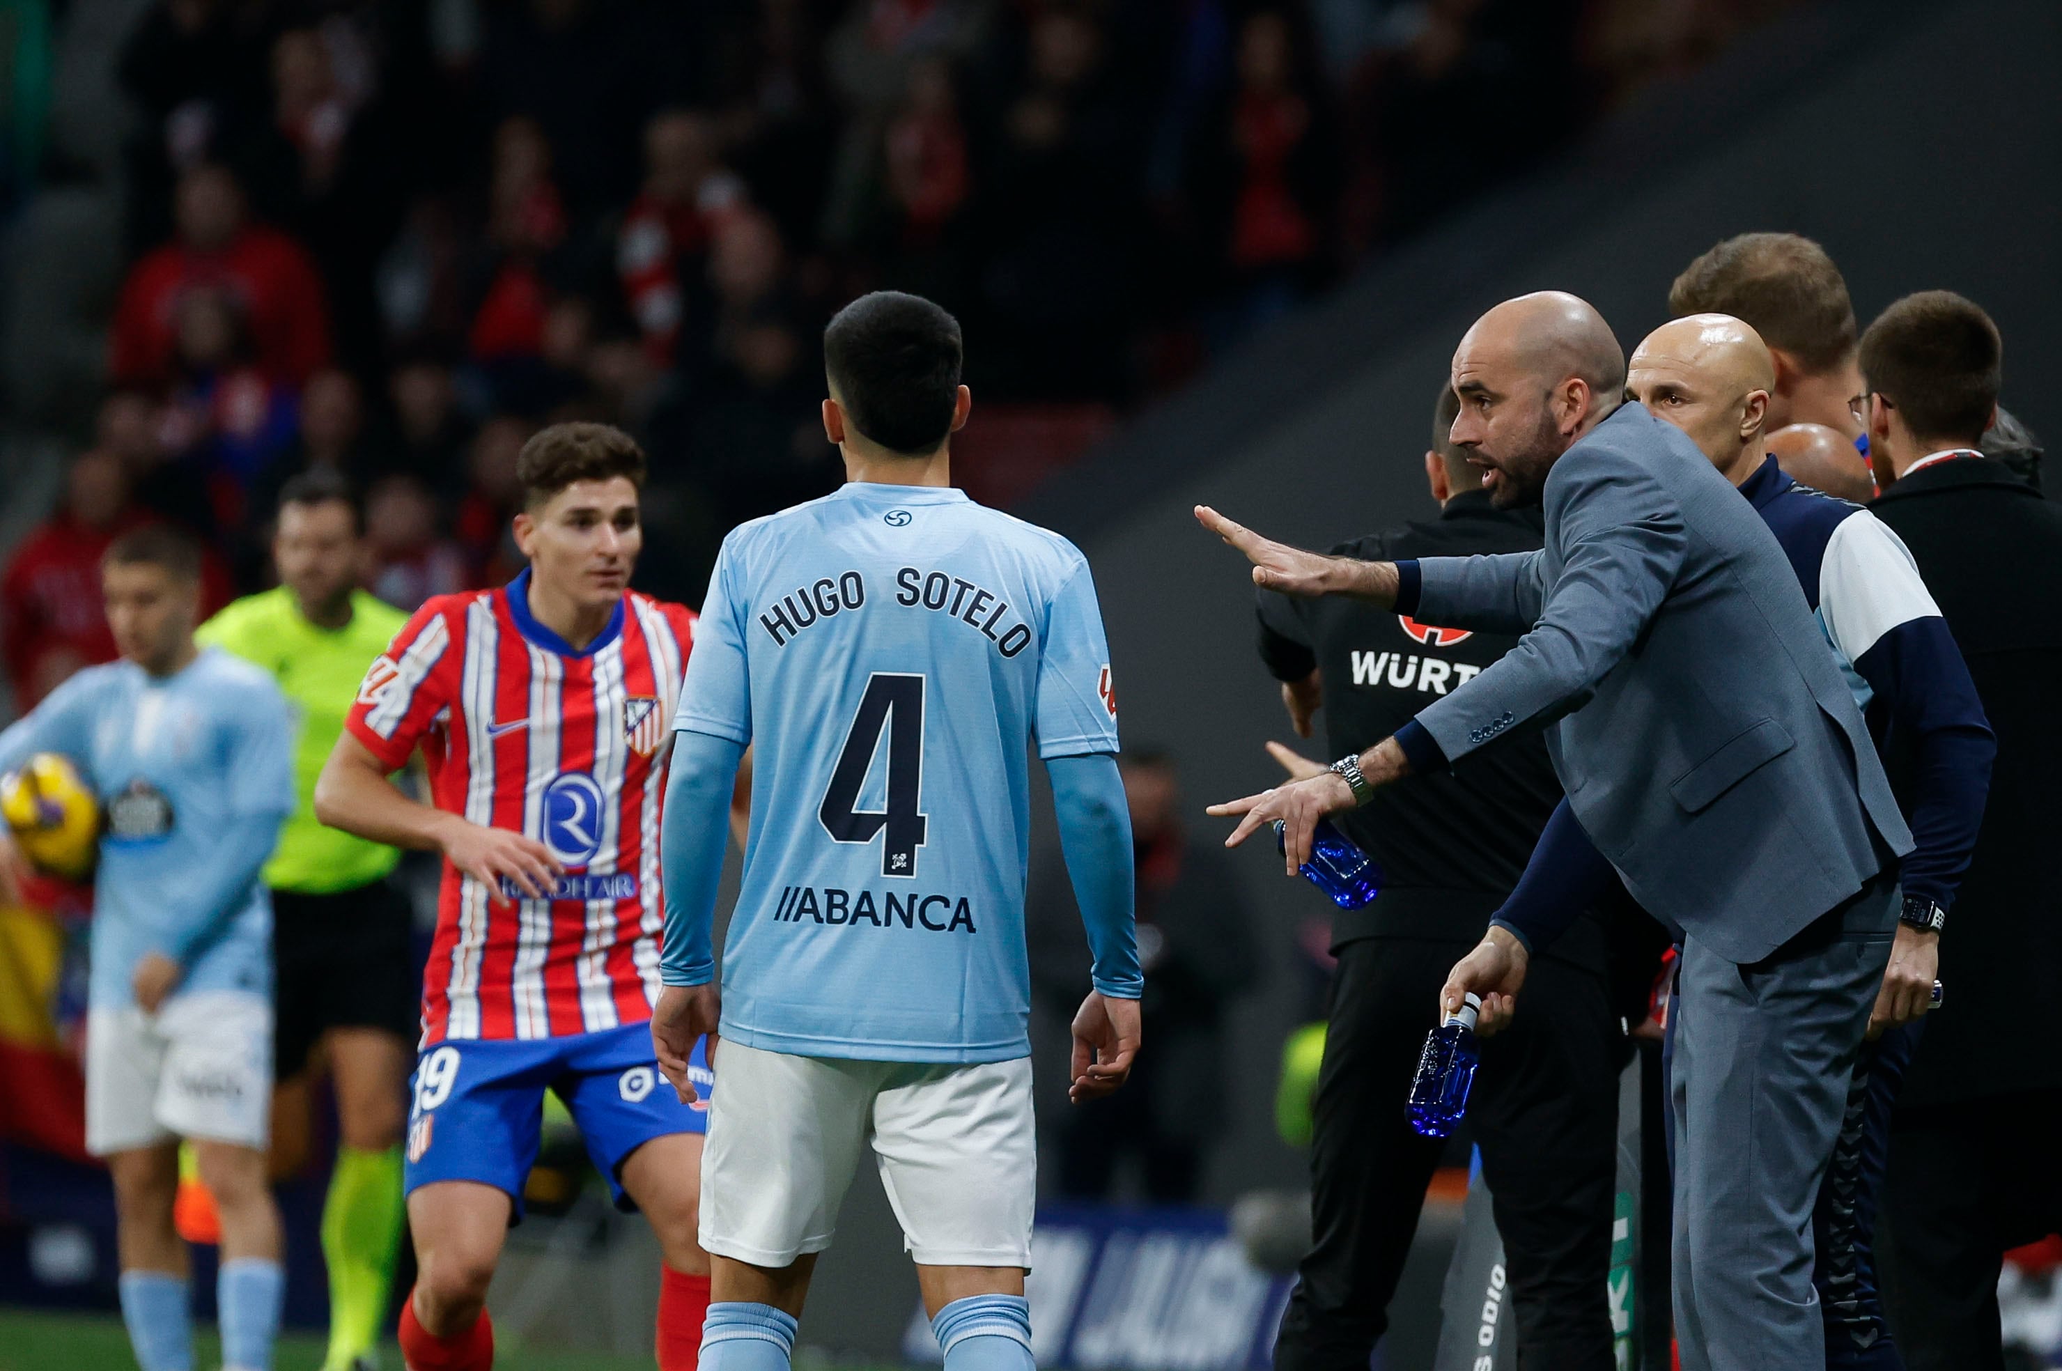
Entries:
[[272, 678], [219, 647], [157, 678], [89, 666], [0, 734], [0, 771], [64, 753], [105, 814], [93, 880], [95, 1008], [134, 1004], [144, 952], [188, 944], [179, 992], [272, 994], [272, 901], [256, 878], [233, 913], [198, 907], [233, 816], [293, 812], [293, 726]]

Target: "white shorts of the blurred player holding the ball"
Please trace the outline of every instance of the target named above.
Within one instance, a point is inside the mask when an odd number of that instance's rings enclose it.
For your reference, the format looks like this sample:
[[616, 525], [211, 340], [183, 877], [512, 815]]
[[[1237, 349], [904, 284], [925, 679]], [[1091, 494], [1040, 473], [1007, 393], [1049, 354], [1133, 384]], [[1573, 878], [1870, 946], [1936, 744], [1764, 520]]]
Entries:
[[87, 1012], [87, 1150], [198, 1138], [264, 1150], [272, 1105], [272, 1002], [235, 990]]

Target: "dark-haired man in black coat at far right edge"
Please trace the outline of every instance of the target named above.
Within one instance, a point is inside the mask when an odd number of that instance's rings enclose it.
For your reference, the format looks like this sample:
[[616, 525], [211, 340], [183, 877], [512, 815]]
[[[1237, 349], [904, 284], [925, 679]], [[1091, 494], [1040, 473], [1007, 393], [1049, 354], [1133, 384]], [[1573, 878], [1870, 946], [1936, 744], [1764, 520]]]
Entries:
[[[1874, 513], [1940, 604], [1998, 736], [1984, 831], [1891, 1119], [1885, 1303], [1909, 1371], [2000, 1371], [1998, 1268], [2062, 1229], [2062, 509], [1982, 454], [2002, 344], [1944, 291], [1862, 336]], [[1916, 779], [1891, 755], [1891, 781]]]

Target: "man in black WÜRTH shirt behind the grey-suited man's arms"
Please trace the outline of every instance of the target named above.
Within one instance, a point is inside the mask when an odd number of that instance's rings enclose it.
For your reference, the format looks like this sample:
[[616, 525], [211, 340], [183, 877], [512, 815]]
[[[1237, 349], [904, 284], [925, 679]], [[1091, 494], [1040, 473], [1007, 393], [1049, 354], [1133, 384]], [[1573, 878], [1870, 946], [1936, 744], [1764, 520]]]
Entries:
[[[1526, 553], [1536, 509], [1499, 511], [1448, 443], [1439, 398], [1425, 472], [1443, 511], [1346, 542], [1361, 559]], [[1468, 680], [1518, 639], [1460, 633], [1346, 598], [1260, 592], [1260, 656], [1297, 732], [1324, 705], [1330, 755], [1388, 738], [1429, 697]], [[1441, 1144], [1404, 1122], [1404, 1097], [1439, 988], [1518, 882], [1561, 800], [1538, 734], [1505, 738], [1452, 773], [1394, 785], [1334, 823], [1384, 872], [1382, 897], [1340, 911], [1338, 977], [1318, 1078], [1309, 1256], [1274, 1344], [1276, 1371], [1367, 1371], [1388, 1328]], [[1606, 983], [1606, 940], [1586, 917], [1538, 959], [1526, 1012], [1483, 1041], [1468, 1124], [1495, 1200], [1524, 1371], [1610, 1371], [1606, 1307], [1617, 1091], [1627, 1060]]]

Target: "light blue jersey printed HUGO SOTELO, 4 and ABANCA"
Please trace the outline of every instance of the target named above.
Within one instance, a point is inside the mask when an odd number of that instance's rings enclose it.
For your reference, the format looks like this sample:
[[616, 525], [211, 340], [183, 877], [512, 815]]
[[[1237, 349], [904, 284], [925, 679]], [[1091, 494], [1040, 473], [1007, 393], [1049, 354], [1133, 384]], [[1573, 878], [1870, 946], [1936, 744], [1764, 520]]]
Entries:
[[1074, 544], [934, 487], [854, 482], [744, 524], [676, 728], [753, 744], [726, 1037], [885, 1062], [1031, 1051], [1031, 742], [1118, 750]]

